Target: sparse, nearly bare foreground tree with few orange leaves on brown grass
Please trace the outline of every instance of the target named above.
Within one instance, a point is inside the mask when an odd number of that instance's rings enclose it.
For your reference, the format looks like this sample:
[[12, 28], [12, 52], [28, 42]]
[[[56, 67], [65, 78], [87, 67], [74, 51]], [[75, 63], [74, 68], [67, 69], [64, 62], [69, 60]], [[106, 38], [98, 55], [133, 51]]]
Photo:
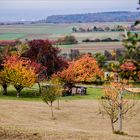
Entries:
[[[104, 87], [104, 96], [101, 98], [101, 113], [109, 116], [113, 133], [123, 133], [122, 120], [130, 114], [132, 115], [136, 104], [133, 93], [129, 94], [131, 100], [125, 97], [126, 87], [125, 82], [112, 82], [110, 86]], [[114, 128], [116, 122], [118, 122], [118, 131]]]

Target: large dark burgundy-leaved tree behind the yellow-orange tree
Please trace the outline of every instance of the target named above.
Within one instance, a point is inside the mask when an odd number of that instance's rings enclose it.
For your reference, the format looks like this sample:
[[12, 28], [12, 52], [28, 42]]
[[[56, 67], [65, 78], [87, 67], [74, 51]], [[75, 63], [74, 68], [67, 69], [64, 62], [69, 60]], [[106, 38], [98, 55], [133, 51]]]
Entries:
[[59, 55], [60, 50], [53, 47], [49, 40], [32, 40], [28, 42], [29, 50], [24, 53], [31, 61], [36, 61], [47, 67], [46, 77], [62, 70], [67, 66], [67, 62]]

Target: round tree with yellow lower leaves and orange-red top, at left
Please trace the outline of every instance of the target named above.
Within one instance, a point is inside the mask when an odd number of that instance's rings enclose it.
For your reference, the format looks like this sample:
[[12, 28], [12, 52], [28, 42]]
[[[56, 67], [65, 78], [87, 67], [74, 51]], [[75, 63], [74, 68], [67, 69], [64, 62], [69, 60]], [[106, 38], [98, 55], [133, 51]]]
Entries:
[[4, 60], [3, 66], [4, 69], [0, 74], [8, 83], [14, 85], [17, 97], [24, 87], [31, 87], [36, 81], [35, 69], [26, 58], [18, 55], [9, 56]]

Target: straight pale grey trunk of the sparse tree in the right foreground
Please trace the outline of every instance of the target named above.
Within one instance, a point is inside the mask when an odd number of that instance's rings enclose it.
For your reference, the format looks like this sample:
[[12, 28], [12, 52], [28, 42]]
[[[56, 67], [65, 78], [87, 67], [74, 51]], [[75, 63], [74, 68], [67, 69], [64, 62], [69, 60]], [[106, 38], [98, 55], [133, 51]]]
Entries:
[[119, 106], [118, 106], [118, 127], [119, 131], [122, 132], [122, 92], [119, 94]]

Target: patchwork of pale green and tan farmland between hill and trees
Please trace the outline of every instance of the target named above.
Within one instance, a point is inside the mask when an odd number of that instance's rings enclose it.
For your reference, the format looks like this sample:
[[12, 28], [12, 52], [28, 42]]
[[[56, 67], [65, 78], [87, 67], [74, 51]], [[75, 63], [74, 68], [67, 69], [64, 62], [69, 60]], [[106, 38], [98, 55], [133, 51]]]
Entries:
[[117, 26], [131, 25], [131, 23], [72, 23], [72, 24], [35, 24], [35, 25], [0, 25], [0, 40], [16, 40], [25, 41], [26, 39], [50, 39], [57, 40], [66, 35], [75, 36], [78, 44], [59, 45], [62, 52], [69, 52], [71, 49], [79, 49], [81, 52], [97, 52], [104, 50], [113, 50], [122, 47], [121, 42], [90, 42], [83, 43], [84, 39], [122, 39], [123, 32], [72, 32], [73, 27], [90, 28], [93, 26]]

